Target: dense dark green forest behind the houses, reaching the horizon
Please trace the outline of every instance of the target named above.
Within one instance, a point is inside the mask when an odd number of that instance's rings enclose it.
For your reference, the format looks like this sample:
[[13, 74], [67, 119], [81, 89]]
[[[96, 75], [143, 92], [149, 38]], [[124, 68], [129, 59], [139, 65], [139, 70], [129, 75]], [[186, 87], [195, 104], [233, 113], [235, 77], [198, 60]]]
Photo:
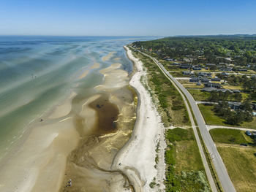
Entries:
[[[147, 42], [134, 42], [132, 45], [154, 53], [159, 59], [193, 58], [192, 64], [227, 62], [246, 66], [256, 63], [255, 35], [166, 37]], [[227, 57], [231, 57], [232, 60], [226, 60]], [[250, 69], [255, 68], [255, 65], [250, 66]]]

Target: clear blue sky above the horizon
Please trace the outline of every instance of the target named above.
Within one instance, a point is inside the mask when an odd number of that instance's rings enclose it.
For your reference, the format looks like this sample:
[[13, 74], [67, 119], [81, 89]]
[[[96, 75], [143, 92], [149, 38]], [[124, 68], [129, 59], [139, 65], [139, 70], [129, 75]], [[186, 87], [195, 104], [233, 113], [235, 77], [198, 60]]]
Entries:
[[0, 35], [256, 34], [256, 0], [1, 0]]

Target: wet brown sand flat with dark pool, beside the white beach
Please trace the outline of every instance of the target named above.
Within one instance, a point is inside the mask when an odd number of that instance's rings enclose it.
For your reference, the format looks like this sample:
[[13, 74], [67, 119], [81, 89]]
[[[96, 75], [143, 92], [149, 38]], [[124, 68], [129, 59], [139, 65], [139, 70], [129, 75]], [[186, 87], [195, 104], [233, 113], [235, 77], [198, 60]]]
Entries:
[[[69, 155], [61, 191], [132, 191], [126, 175], [111, 167], [135, 123], [134, 94], [127, 88], [127, 73], [120, 80], [123, 82], [113, 83], [116, 76], [112, 74], [124, 73], [119, 67], [101, 70], [102, 74], [111, 74], [97, 87], [104, 87], [100, 89], [103, 92], [91, 96], [75, 117], [81, 139]], [[72, 186], [67, 186], [70, 179]]]

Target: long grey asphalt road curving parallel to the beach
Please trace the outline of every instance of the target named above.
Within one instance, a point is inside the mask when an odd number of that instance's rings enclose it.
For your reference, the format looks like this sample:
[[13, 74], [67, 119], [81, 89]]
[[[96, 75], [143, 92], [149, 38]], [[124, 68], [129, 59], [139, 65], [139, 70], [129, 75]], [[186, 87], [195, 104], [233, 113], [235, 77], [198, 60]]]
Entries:
[[169, 74], [169, 72], [167, 72], [165, 67], [162, 66], [162, 64], [160, 64], [159, 61], [157, 61], [157, 59], [152, 58], [150, 55], [147, 55], [146, 53], [144, 53], [143, 55], [150, 57], [165, 72], [165, 74], [167, 74], [167, 76], [170, 77], [170, 79], [176, 83], [178, 88], [180, 88], [180, 90], [187, 96], [189, 104], [192, 107], [192, 110], [194, 112], [195, 119], [197, 120], [197, 125], [198, 125], [200, 133], [202, 135], [203, 142], [205, 143], [205, 145], [208, 149], [208, 153], [211, 154], [214, 168], [217, 172], [217, 175], [219, 177], [219, 182], [221, 183], [223, 190], [225, 192], [236, 191], [236, 189], [233, 186], [233, 183], [230, 180], [229, 175], [227, 174], [226, 166], [223, 163], [221, 156], [219, 155], [217, 147], [214, 144], [213, 139], [211, 138], [208, 128], [206, 127], [206, 123], [203, 119], [203, 116], [201, 115], [201, 112], [200, 112], [199, 108], [197, 107], [195, 99], [191, 96], [189, 91], [187, 91], [187, 89], [184, 88], [180, 82], [178, 82], [178, 80], [176, 80], [172, 75]]

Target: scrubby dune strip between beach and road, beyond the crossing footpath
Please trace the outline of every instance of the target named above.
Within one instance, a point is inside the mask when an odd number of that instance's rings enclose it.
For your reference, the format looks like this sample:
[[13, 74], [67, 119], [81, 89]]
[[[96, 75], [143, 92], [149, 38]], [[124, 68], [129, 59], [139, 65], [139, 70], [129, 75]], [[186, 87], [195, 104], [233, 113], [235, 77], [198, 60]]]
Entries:
[[151, 94], [153, 101], [158, 104], [158, 110], [165, 126], [190, 126], [184, 101], [170, 80], [162, 74], [150, 58], [138, 52], [133, 52], [133, 54], [140, 58], [147, 70], [147, 79], [142, 78], [140, 81]]

